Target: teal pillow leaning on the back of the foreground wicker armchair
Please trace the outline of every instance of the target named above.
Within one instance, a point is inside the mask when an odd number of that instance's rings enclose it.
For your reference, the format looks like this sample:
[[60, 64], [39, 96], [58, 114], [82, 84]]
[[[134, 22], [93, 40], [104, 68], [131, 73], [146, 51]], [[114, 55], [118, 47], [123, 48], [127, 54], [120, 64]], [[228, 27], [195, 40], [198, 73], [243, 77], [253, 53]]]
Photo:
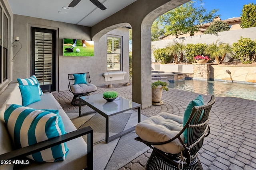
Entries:
[[[186, 125], [186, 123], [187, 123], [187, 121], [188, 121], [188, 119], [190, 117], [190, 113], [192, 111], [192, 108], [194, 106], [202, 106], [202, 105], [204, 105], [204, 99], [203, 99], [203, 97], [201, 95], [199, 95], [197, 98], [195, 98], [194, 100], [192, 100], [188, 104], [188, 106], [187, 106], [187, 108], [186, 108], [186, 110], [184, 112], [183, 127]], [[202, 114], [203, 113], [204, 112], [202, 112]], [[201, 117], [202, 117], [202, 115], [201, 115]], [[183, 135], [185, 137], [185, 142], [184, 143], [187, 144], [188, 143], [188, 129], [185, 129], [185, 131], [183, 132]]]

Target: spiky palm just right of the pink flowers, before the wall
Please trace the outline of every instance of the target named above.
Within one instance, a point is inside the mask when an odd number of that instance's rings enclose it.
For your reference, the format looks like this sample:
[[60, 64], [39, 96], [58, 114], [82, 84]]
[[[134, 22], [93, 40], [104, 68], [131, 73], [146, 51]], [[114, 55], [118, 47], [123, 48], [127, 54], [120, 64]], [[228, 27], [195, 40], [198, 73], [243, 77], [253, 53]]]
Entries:
[[214, 57], [214, 59], [216, 60], [217, 64], [220, 64], [220, 55], [222, 54], [222, 46], [223, 46], [223, 43], [220, 42], [218, 43], [219, 39], [215, 42], [215, 43], [212, 43], [212, 44], [209, 44], [204, 53], [210, 55], [210, 57]]

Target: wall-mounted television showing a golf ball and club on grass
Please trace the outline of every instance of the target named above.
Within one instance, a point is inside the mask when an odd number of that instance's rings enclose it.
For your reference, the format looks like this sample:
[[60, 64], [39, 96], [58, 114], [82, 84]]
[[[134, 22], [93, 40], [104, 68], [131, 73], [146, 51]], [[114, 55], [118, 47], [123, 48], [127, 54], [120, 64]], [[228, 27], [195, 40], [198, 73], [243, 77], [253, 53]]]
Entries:
[[94, 41], [64, 38], [63, 56], [92, 57], [94, 56]]

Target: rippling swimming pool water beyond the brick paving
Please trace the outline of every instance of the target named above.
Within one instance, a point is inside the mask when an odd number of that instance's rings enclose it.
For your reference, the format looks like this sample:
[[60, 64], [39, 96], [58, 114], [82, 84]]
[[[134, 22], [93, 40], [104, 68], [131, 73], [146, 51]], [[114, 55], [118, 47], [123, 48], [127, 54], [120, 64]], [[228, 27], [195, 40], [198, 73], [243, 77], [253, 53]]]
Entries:
[[170, 82], [169, 88], [195, 92], [199, 94], [214, 94], [222, 97], [237, 97], [256, 100], [256, 85], [222, 81], [184, 80]]

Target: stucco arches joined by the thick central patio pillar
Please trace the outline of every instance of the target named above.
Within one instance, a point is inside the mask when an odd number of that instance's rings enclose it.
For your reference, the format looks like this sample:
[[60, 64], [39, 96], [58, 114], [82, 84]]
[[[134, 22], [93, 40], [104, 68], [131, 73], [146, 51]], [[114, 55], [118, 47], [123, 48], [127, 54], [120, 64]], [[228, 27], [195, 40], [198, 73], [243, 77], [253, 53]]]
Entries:
[[[132, 100], [151, 106], [151, 26], [160, 15], [189, 0], [137, 0], [92, 27], [92, 37], [97, 39], [120, 23], [132, 27]], [[96, 41], [96, 40], [95, 40]]]

